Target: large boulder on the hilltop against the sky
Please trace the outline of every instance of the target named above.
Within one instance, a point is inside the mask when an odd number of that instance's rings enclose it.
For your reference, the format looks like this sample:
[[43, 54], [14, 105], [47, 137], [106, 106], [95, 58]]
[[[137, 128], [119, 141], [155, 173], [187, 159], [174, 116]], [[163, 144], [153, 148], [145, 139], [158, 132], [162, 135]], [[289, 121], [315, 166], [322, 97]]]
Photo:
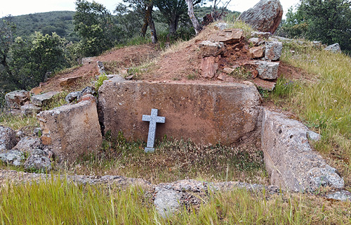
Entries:
[[283, 7], [279, 0], [260, 0], [258, 4], [239, 15], [244, 21], [260, 32], [274, 34], [282, 21]]

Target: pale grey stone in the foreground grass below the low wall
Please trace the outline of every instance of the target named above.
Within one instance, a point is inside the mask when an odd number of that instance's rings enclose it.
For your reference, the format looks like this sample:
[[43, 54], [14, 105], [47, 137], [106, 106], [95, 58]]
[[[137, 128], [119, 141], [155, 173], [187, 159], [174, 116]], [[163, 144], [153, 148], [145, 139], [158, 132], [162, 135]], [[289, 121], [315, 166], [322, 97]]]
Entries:
[[156, 206], [157, 212], [161, 217], [171, 217], [179, 207], [180, 193], [166, 188], [155, 188], [156, 195], [154, 197], [154, 205]]

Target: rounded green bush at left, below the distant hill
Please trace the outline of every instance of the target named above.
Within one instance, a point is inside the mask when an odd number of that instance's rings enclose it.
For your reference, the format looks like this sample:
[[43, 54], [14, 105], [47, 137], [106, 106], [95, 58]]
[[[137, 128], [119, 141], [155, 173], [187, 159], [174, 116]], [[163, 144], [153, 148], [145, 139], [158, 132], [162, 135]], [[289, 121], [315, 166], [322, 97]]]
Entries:
[[44, 82], [46, 72], [69, 66], [64, 38], [36, 32], [29, 39], [17, 37], [11, 48], [11, 71], [19, 89], [31, 89]]

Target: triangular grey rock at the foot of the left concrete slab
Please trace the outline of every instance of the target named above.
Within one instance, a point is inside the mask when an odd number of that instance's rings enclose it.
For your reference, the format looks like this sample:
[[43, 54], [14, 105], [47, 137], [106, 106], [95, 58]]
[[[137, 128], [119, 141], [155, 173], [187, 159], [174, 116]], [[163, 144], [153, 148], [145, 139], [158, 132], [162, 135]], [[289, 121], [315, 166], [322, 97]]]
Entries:
[[25, 169], [31, 171], [38, 171], [38, 172], [50, 172], [51, 167], [51, 160], [46, 156], [44, 150], [35, 149], [32, 152], [32, 155], [27, 158], [25, 161]]

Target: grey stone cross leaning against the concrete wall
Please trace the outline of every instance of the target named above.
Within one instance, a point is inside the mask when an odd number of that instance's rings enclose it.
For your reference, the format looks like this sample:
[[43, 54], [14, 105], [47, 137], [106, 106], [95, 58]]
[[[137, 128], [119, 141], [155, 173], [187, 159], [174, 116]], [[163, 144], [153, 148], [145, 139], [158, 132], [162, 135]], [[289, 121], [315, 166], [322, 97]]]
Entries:
[[158, 117], [157, 116], [158, 113], [159, 113], [159, 110], [152, 108], [151, 115], [143, 115], [143, 121], [150, 122], [149, 134], [147, 135], [147, 145], [145, 148], [145, 153], [154, 151], [154, 138], [156, 135], [156, 123], [160, 122], [160, 123], [164, 124], [164, 122], [166, 120], [165, 117]]

